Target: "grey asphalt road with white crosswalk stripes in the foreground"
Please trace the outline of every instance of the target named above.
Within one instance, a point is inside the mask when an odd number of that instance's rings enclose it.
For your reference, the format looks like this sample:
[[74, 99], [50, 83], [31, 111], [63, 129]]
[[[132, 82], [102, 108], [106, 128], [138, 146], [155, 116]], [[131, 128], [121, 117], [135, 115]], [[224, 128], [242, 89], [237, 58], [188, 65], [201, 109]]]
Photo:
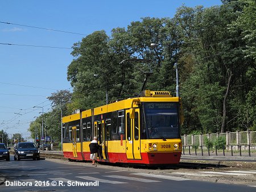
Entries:
[[86, 162], [13, 161], [11, 157], [9, 162], [0, 161], [0, 174], [6, 178], [0, 185], [0, 191], [255, 191], [256, 184], [254, 186], [252, 183], [233, 185], [202, 181], [205, 177], [219, 178], [226, 175], [238, 179], [249, 175], [254, 178], [256, 174], [255, 170], [240, 171], [243, 173], [197, 170], [194, 174], [195, 171], [183, 169], [153, 170], [106, 165], [96, 167]]

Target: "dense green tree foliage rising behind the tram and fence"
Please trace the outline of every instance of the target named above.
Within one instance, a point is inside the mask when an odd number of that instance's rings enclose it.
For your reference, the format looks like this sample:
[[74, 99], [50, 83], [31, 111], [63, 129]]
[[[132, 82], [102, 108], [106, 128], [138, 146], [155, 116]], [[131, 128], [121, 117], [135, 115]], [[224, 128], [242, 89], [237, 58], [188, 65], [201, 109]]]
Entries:
[[[185, 115], [181, 133], [254, 129], [255, 1], [222, 2], [209, 8], [181, 6], [173, 18], [142, 18], [114, 28], [110, 36], [95, 31], [75, 43], [66, 114], [105, 105], [107, 91], [109, 101], [139, 95], [144, 72], [153, 72], [146, 89], [175, 94], [178, 66]], [[53, 98], [55, 116], [60, 103]]]

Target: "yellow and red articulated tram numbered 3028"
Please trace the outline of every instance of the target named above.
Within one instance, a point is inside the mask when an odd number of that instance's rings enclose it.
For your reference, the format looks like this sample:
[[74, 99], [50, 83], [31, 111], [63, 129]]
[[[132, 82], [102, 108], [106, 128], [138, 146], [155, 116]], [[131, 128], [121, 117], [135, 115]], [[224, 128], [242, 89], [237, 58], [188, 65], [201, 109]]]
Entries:
[[181, 156], [181, 99], [168, 91], [144, 90], [140, 97], [64, 116], [63, 153], [90, 160], [93, 136], [102, 144], [98, 161], [177, 164]]

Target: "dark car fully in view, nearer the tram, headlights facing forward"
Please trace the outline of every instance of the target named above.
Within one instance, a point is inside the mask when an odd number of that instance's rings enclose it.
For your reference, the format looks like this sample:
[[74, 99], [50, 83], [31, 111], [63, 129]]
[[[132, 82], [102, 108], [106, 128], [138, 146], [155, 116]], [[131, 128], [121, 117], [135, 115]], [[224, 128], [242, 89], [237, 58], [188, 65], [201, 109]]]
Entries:
[[16, 144], [14, 147], [14, 160], [32, 158], [33, 160], [40, 160], [40, 152], [36, 145], [32, 142], [22, 142]]

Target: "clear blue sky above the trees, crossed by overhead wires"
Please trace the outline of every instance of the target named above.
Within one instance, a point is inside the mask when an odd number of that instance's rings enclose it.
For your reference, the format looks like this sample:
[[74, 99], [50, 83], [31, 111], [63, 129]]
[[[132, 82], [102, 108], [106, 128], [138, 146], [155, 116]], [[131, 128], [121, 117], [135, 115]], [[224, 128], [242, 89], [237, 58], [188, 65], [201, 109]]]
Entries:
[[42, 111], [32, 106], [44, 107], [46, 112], [51, 108], [47, 96], [57, 90], [72, 91], [67, 67], [73, 59], [69, 49], [73, 43], [98, 30], [110, 35], [113, 28], [126, 28], [146, 16], [172, 18], [183, 3], [209, 7], [220, 5], [221, 1], [0, 1], [0, 130], [9, 136], [22, 133], [28, 138], [30, 122]]

